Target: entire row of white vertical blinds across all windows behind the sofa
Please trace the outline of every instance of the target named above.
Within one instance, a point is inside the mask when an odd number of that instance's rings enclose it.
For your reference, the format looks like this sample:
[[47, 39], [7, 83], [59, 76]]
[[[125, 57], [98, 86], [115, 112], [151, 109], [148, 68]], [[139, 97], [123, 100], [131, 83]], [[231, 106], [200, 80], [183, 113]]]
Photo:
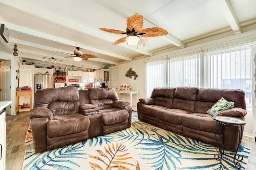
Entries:
[[[146, 96], [155, 87], [195, 86], [198, 88], [239, 88], [252, 106], [250, 45], [255, 41], [226, 45], [196, 53], [146, 63]], [[169, 70], [169, 71], [168, 71]]]

